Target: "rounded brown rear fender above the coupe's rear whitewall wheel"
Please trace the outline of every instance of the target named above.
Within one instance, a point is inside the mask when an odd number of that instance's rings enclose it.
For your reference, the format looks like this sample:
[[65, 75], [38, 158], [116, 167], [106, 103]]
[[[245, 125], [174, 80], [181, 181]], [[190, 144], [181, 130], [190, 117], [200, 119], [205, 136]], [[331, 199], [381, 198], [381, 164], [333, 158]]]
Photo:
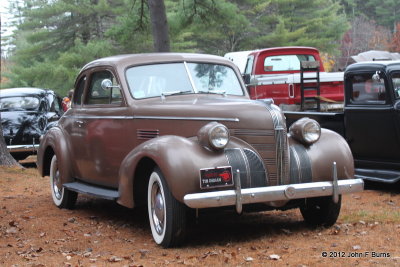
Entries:
[[73, 181], [69, 146], [66, 140], [63, 131], [57, 126], [49, 129], [41, 139], [37, 154], [37, 167], [42, 177], [49, 175], [51, 158], [56, 154], [61, 182]]

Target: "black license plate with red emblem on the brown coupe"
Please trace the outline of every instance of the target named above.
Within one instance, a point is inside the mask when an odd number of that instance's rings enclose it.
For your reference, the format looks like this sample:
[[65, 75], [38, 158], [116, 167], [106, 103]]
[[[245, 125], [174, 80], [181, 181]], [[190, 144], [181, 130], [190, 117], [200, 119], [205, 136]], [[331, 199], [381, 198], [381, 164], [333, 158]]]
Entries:
[[200, 170], [200, 188], [214, 188], [233, 185], [232, 167], [217, 167]]

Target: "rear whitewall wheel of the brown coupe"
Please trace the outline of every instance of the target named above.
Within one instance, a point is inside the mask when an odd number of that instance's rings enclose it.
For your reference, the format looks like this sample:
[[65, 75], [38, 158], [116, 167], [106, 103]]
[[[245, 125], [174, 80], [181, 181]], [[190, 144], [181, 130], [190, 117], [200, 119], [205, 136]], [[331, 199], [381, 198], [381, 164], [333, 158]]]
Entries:
[[50, 186], [54, 204], [60, 209], [72, 209], [75, 206], [78, 193], [65, 188], [60, 180], [57, 156], [54, 155], [50, 164]]

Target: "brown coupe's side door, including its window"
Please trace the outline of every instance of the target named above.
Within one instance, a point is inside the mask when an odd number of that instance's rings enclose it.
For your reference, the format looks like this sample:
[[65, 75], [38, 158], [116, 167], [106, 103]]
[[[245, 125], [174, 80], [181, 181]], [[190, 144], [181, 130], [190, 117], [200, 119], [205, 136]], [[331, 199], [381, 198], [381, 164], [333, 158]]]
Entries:
[[73, 111], [68, 113], [73, 117], [69, 131], [75, 173], [85, 182], [116, 188], [120, 164], [134, 147], [132, 116], [119, 88], [101, 87], [104, 79], [118, 84], [112, 71], [96, 70], [84, 79], [87, 86], [75, 90]]

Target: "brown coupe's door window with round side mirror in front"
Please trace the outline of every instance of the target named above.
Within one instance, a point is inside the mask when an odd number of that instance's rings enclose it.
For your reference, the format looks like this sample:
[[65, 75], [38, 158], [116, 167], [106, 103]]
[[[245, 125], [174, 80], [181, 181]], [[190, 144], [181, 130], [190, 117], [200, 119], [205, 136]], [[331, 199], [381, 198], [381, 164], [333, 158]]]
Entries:
[[119, 88], [103, 89], [101, 83], [104, 79], [112, 81], [117, 85], [115, 77], [109, 71], [99, 71], [92, 74], [87, 104], [118, 104], [121, 103], [121, 92]]

